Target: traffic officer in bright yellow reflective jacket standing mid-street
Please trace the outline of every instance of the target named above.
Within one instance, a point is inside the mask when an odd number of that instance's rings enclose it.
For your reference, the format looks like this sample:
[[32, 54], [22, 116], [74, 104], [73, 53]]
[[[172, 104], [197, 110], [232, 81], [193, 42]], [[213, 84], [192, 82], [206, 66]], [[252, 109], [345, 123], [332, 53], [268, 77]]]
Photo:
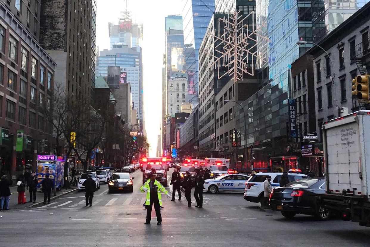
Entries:
[[146, 181], [141, 187], [140, 191], [142, 193], [146, 192], [147, 197], [145, 200], [145, 206], [147, 208], [147, 220], [144, 224], [150, 224], [151, 216], [152, 216], [152, 207], [154, 204], [155, 214], [157, 214], [157, 225], [162, 224], [162, 216], [161, 216], [161, 209], [159, 207], [162, 206], [162, 197], [161, 192], [166, 194], [168, 197], [171, 196], [168, 194], [168, 191], [163, 187], [161, 183], [155, 180], [155, 173], [151, 172], [149, 174], [150, 179]]

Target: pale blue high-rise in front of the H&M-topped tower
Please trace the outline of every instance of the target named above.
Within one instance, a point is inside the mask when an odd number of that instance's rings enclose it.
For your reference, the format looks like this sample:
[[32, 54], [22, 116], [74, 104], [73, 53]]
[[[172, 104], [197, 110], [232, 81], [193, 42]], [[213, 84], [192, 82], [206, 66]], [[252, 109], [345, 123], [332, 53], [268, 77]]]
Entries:
[[[107, 78], [108, 66], [119, 66], [122, 78], [125, 77], [126, 82], [131, 84], [132, 105], [133, 109], [137, 110], [137, 119], [142, 125], [143, 120], [143, 82], [142, 82], [142, 61], [141, 49], [139, 47], [129, 48], [121, 46], [121, 48], [113, 48], [111, 50], [100, 51], [96, 75]], [[124, 74], [126, 73], [126, 74]]]

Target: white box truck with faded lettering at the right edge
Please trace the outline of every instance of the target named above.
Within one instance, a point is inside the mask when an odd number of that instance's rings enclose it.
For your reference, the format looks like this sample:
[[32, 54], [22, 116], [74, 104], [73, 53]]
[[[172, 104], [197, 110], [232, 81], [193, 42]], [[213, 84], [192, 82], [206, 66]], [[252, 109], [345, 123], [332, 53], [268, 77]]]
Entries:
[[370, 226], [370, 111], [323, 124], [326, 193], [323, 206], [343, 220]]

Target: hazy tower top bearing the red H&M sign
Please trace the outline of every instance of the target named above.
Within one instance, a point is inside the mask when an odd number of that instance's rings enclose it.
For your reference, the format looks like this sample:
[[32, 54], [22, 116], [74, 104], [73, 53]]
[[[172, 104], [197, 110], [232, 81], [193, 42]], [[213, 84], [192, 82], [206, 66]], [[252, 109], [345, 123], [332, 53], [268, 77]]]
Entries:
[[130, 11], [122, 11], [118, 23], [108, 23], [111, 49], [117, 46], [141, 46], [142, 30], [142, 24], [132, 22]]

